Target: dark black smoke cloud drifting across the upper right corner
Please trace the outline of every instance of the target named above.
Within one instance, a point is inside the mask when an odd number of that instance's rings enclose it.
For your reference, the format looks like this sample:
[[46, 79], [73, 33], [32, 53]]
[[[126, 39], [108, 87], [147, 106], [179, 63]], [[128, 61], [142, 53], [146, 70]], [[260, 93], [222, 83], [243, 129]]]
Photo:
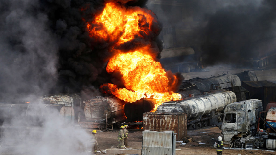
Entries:
[[[218, 10], [201, 30], [203, 62], [243, 65], [259, 53], [275, 49], [276, 1], [264, 0]], [[269, 53], [268, 53], [269, 54]]]

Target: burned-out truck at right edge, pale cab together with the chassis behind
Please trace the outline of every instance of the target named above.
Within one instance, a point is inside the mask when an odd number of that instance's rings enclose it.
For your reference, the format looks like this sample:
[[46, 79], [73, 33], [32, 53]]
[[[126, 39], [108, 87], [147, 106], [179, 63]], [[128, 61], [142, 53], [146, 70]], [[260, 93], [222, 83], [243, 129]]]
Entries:
[[224, 110], [221, 126], [224, 145], [230, 148], [276, 149], [276, 103], [263, 111], [258, 99], [232, 103]]

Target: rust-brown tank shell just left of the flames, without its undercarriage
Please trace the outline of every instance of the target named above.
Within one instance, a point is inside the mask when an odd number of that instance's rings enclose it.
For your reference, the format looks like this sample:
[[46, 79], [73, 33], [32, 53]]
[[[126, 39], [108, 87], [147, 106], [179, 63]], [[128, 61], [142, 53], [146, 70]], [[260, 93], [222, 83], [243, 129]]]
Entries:
[[115, 97], [99, 97], [93, 98], [85, 102], [84, 115], [86, 120], [93, 121], [99, 119], [107, 119], [123, 117], [124, 103]]

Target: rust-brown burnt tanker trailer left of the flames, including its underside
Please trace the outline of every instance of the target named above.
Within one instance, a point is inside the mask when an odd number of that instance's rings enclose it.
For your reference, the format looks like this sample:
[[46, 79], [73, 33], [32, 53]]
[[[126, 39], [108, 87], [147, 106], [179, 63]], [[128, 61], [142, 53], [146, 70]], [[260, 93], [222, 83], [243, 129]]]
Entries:
[[96, 97], [85, 101], [84, 116], [78, 114], [78, 124], [84, 128], [106, 128], [126, 120], [125, 103], [115, 97]]

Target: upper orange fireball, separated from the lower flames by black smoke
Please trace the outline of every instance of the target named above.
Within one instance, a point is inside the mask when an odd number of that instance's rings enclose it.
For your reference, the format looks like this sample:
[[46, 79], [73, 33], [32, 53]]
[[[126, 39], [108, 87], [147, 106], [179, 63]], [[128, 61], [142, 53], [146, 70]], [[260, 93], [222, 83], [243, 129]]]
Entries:
[[102, 14], [91, 24], [87, 24], [90, 36], [105, 41], [116, 41], [117, 45], [132, 40], [136, 35], [143, 36], [151, 31], [155, 19], [149, 10], [140, 7], [126, 7], [118, 3], [107, 3]]

